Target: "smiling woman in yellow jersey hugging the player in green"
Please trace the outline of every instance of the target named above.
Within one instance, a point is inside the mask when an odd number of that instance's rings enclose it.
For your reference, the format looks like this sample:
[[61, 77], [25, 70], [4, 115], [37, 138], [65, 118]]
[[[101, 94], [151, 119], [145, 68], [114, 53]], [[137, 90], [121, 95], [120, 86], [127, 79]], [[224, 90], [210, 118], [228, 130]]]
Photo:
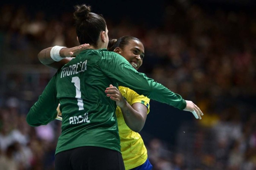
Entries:
[[[88, 45], [80, 45], [73, 48], [63, 48], [65, 56], [74, 56], [86, 49]], [[61, 68], [71, 58], [65, 58], [60, 62], [54, 62], [45, 56], [47, 49], [38, 54], [39, 60], [47, 66]], [[144, 58], [144, 46], [135, 37], [124, 36], [110, 40], [108, 50], [115, 51], [123, 56], [136, 70], [142, 65]], [[119, 88], [119, 90], [118, 90]], [[144, 142], [138, 133], [144, 126], [149, 113], [149, 98], [137, 94], [127, 88], [107, 87], [105, 93], [116, 101], [116, 116], [118, 121], [119, 136], [121, 141], [121, 153], [126, 170], [151, 170], [152, 165], [148, 160], [148, 154]]]

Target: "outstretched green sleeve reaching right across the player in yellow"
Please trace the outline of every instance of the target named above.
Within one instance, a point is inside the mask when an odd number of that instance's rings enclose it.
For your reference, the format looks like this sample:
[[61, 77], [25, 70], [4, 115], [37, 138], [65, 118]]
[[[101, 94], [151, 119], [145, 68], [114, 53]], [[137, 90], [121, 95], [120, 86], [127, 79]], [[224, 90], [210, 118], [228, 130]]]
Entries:
[[99, 62], [100, 68], [118, 85], [128, 87], [149, 99], [171, 105], [180, 110], [186, 107], [185, 100], [179, 94], [173, 93], [162, 84], [148, 78], [143, 73], [139, 73], [124, 57], [114, 52], [108, 52], [102, 56]]

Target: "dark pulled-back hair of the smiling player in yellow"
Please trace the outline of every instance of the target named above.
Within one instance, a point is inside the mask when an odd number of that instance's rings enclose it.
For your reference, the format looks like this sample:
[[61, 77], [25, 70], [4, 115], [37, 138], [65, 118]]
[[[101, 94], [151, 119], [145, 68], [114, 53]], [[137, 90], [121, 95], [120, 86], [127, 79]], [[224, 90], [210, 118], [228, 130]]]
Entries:
[[114, 51], [114, 49], [116, 47], [119, 47], [121, 49], [124, 49], [124, 46], [128, 45], [130, 40], [137, 40], [139, 42], [141, 42], [139, 39], [137, 39], [136, 37], [132, 37], [132, 36], [123, 36], [120, 37], [119, 39], [112, 39], [109, 40], [108, 42], [108, 51]]

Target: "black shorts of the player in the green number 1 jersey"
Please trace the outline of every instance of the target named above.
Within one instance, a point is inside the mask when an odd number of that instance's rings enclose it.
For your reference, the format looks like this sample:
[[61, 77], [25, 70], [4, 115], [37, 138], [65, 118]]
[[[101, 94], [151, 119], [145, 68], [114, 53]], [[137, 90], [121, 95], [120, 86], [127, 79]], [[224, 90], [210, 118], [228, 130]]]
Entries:
[[79, 147], [57, 153], [55, 170], [124, 170], [124, 161], [115, 150]]

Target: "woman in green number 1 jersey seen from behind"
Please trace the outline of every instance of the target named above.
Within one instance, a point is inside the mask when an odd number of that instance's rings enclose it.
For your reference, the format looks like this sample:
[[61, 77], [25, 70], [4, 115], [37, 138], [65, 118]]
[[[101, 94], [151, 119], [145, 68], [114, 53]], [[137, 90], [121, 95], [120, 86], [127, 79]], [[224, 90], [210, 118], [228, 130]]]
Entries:
[[[193, 102], [138, 73], [119, 54], [105, 49], [108, 30], [101, 16], [85, 5], [77, 6], [74, 15], [79, 43], [90, 46], [57, 71], [27, 115], [31, 126], [47, 124], [57, 116], [60, 103], [63, 122], [55, 155], [57, 170], [124, 168], [120, 161], [116, 102], [105, 94], [105, 87], [111, 84], [129, 87], [201, 118], [203, 113]], [[66, 56], [62, 48], [54, 46], [50, 50], [53, 60]]]

